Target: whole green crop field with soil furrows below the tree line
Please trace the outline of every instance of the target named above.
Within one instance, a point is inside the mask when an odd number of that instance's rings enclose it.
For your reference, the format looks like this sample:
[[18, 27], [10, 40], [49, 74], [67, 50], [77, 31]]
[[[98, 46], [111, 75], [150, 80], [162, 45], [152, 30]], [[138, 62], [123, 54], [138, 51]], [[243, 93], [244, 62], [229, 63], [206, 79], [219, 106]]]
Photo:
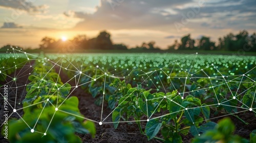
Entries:
[[14, 48], [0, 81], [10, 142], [256, 142], [255, 56]]

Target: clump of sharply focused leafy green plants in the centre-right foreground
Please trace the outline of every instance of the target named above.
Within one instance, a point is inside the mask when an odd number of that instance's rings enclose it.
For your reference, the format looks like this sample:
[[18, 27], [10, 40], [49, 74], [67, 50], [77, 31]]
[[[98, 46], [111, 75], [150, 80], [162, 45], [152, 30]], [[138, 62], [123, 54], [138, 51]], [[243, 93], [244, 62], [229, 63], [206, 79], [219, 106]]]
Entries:
[[[112, 113], [115, 128], [125, 114], [126, 121], [129, 117], [134, 117], [141, 134], [145, 133], [148, 140], [157, 138], [155, 136], [161, 130], [166, 142], [182, 142], [180, 134], [187, 135], [189, 131], [198, 134], [197, 128], [204, 120], [200, 113], [205, 120], [209, 118], [209, 107], [206, 104], [201, 104], [198, 98], [187, 96], [182, 99], [176, 90], [166, 94], [163, 92], [151, 94], [150, 91], [138, 85], [136, 88], [130, 88], [125, 96], [120, 98], [118, 106]], [[150, 119], [154, 113], [160, 111], [169, 113], [160, 118]], [[142, 116], [147, 117], [145, 131], [141, 128]]]

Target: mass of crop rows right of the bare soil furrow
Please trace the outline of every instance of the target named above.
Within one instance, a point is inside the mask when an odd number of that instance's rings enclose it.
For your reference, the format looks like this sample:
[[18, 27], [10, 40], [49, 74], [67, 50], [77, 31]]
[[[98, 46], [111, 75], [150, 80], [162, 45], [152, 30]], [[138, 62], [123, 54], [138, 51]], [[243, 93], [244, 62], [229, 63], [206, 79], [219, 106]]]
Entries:
[[[158, 139], [181, 142], [181, 134], [199, 136], [206, 128], [214, 130], [210, 109], [230, 115], [241, 110], [256, 113], [255, 57], [158, 56], [56, 60], [62, 61], [70, 78], [79, 76], [82, 88], [97, 98], [96, 104], [108, 103], [115, 128], [121, 120], [132, 120], [148, 139], [161, 132], [164, 139]], [[146, 122], [144, 131], [141, 122]]]

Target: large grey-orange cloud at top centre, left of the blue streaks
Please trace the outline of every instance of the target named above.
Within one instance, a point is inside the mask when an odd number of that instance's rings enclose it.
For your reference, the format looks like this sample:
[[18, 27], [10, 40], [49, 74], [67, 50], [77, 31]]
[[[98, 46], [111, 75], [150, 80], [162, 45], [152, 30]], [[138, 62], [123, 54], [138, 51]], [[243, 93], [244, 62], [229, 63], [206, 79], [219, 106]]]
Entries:
[[[192, 0], [174, 1], [117, 1], [101, 0], [95, 13], [82, 11], [68, 11], [63, 14], [80, 18], [75, 29], [103, 30], [103, 29], [148, 29], [154, 26], [170, 26], [179, 17], [172, 8], [191, 2]], [[119, 3], [118, 3], [119, 2]], [[154, 29], [154, 28], [153, 28]]]

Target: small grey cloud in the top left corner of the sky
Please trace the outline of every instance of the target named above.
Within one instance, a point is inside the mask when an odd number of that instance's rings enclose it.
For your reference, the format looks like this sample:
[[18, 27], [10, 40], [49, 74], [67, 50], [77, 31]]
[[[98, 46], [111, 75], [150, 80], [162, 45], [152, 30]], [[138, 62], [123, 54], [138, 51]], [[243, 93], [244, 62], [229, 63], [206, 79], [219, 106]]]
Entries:
[[48, 9], [47, 5], [35, 6], [32, 2], [26, 0], [0, 0], [0, 7], [28, 13], [45, 13]]

